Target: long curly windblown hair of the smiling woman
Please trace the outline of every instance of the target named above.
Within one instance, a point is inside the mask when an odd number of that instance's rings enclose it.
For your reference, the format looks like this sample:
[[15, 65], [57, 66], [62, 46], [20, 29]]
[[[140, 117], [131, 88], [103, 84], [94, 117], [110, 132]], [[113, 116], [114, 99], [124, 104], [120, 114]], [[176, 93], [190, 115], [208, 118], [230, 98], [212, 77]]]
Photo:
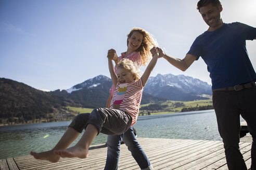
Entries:
[[127, 46], [129, 43], [129, 38], [134, 32], [138, 32], [143, 35], [142, 44], [139, 46], [136, 52], [142, 56], [142, 65], [146, 65], [149, 59], [151, 58], [150, 49], [154, 46], [157, 46], [157, 41], [153, 36], [147, 31], [134, 27], [130, 33], [127, 35]]

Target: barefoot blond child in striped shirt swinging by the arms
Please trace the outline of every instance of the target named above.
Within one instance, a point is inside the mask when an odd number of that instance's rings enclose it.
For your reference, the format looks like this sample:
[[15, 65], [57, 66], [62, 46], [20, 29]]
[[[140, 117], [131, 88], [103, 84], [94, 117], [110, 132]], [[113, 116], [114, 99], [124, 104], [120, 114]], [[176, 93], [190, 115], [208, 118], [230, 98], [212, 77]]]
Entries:
[[[31, 151], [35, 159], [58, 162], [63, 158], [86, 158], [88, 148], [98, 133], [108, 135], [122, 134], [133, 125], [138, 116], [142, 90], [155, 67], [158, 60], [158, 53], [155, 54], [148, 64], [144, 74], [139, 78], [134, 64], [127, 59], [121, 60], [117, 65], [117, 74], [114, 72], [111, 56], [108, 56], [109, 71], [114, 87], [116, 87], [110, 108], [97, 108], [91, 114], [84, 116], [85, 132], [78, 143], [66, 149], [72, 141], [78, 137], [81, 127], [81, 119], [74, 119], [68, 130], [61, 137], [57, 145], [49, 151], [36, 153]], [[131, 105], [131, 103], [133, 103]], [[82, 129], [83, 130], [83, 129]]]

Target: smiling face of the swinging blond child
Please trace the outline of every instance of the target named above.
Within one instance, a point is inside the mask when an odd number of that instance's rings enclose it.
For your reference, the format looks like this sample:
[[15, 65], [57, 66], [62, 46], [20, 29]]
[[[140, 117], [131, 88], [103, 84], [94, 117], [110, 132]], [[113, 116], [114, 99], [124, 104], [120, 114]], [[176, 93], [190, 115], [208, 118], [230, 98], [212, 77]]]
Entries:
[[132, 82], [135, 79], [135, 75], [132, 74], [129, 70], [126, 70], [124, 68], [117, 69], [117, 77], [118, 77], [118, 83], [120, 84]]

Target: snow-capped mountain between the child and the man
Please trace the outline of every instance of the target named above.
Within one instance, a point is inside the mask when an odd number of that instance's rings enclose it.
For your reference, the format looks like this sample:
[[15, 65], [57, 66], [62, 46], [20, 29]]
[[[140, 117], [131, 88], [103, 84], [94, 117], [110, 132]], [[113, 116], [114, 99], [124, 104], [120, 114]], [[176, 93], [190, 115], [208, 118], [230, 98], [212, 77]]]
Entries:
[[169, 100], [190, 101], [205, 99], [203, 94], [212, 95], [211, 86], [199, 79], [172, 74], [149, 77], [144, 92]]

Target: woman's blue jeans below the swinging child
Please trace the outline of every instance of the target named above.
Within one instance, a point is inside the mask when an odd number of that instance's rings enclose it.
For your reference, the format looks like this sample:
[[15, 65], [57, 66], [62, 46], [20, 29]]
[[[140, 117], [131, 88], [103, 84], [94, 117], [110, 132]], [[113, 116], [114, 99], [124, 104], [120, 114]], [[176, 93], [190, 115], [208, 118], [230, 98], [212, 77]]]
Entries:
[[119, 155], [120, 155], [120, 145], [121, 140], [123, 138], [123, 141], [125, 145], [128, 147], [128, 150], [131, 151], [133, 158], [138, 163], [140, 169], [145, 169], [150, 166], [150, 162], [142, 149], [142, 147], [139, 145], [134, 132], [133, 128], [130, 127], [124, 134], [122, 135], [109, 135], [107, 140], [107, 146], [108, 146], [108, 154], [107, 154], [107, 161], [105, 165], [106, 169], [118, 169], [118, 161], [119, 161]]

